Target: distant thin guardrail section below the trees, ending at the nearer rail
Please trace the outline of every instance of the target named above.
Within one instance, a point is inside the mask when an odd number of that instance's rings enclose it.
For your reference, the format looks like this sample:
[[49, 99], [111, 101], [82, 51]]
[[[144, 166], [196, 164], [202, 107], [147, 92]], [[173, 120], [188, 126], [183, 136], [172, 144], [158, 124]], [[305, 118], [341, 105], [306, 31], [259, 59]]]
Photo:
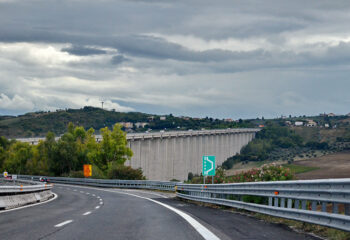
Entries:
[[[38, 176], [19, 175], [20, 179], [38, 181]], [[110, 179], [91, 179], [91, 178], [64, 178], [48, 177], [52, 183], [75, 184], [106, 188], [134, 188], [134, 189], [152, 189], [163, 191], [175, 191], [176, 182], [161, 182], [148, 180], [110, 180]]]

